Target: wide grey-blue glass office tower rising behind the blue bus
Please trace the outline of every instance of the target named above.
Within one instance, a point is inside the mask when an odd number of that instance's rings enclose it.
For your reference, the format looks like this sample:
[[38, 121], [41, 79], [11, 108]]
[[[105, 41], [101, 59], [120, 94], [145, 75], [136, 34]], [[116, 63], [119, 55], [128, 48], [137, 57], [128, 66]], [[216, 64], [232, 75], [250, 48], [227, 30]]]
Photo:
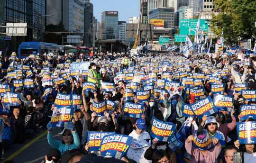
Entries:
[[55, 15], [46, 18], [46, 25], [58, 25], [61, 21], [65, 30], [80, 33], [84, 31], [83, 0], [46, 0], [46, 14]]

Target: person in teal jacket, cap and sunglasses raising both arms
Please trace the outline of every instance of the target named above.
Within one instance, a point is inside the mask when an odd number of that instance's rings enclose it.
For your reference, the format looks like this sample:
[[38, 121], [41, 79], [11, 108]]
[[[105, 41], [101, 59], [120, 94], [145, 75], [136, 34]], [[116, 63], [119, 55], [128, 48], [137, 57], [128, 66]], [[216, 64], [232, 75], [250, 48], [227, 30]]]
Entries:
[[62, 139], [62, 141], [57, 141], [53, 138], [53, 127], [52, 122], [50, 121], [47, 125], [48, 129], [48, 143], [52, 145], [52, 147], [60, 150], [61, 154], [64, 154], [65, 151], [71, 150], [74, 148], [80, 148], [80, 140], [75, 132], [75, 127], [73, 122], [68, 123], [68, 127], [65, 127], [58, 136]]

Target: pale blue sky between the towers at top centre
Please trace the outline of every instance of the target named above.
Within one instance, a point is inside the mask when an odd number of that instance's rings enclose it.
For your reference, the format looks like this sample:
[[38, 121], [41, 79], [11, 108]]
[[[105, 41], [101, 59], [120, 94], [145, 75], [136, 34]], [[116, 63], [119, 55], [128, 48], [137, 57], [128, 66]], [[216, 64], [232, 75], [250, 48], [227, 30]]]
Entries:
[[119, 21], [129, 23], [129, 17], [139, 16], [139, 0], [91, 0], [93, 16], [101, 22], [101, 13], [105, 11], [118, 11]]

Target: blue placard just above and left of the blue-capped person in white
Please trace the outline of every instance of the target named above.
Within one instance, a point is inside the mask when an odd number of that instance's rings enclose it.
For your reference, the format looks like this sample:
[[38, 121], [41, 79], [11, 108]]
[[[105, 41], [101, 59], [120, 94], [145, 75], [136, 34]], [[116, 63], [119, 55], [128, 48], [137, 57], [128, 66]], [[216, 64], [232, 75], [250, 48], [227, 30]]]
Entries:
[[124, 115], [128, 117], [141, 118], [143, 114], [143, 105], [125, 101], [124, 113]]

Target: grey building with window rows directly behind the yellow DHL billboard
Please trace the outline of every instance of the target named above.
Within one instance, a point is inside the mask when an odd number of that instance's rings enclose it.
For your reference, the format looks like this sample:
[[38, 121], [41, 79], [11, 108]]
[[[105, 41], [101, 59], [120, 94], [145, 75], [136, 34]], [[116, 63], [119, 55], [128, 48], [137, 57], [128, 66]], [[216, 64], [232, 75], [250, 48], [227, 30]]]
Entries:
[[165, 7], [149, 11], [149, 20], [150, 19], [164, 19], [165, 28], [172, 28], [174, 27], [174, 8]]

